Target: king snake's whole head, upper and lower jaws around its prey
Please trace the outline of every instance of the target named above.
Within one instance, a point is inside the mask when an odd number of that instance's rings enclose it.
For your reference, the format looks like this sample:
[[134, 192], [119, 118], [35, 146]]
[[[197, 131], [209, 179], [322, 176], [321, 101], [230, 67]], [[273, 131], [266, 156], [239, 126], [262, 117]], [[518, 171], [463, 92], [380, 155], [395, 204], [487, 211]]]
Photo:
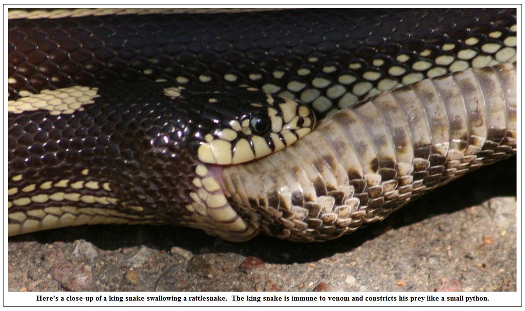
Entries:
[[[175, 211], [182, 210], [184, 215], [175, 213], [177, 217], [170, 218], [228, 241], [254, 237], [260, 231], [229, 204], [224, 194], [222, 171], [227, 166], [256, 162], [252, 160], [295, 143], [315, 125], [313, 111], [296, 101], [255, 88], [219, 89], [216, 85], [184, 84], [165, 89], [164, 94], [174, 98], [177, 109], [184, 110], [185, 121], [177, 126], [181, 133], [186, 133], [181, 135], [180, 143], [174, 140], [173, 147], [181, 147], [180, 156], [172, 158], [176, 164], [159, 171], [165, 180], [187, 185], [183, 194], [174, 195], [173, 191], [170, 195], [183, 199], [183, 202], [175, 199], [172, 206], [183, 207]], [[170, 116], [176, 123], [181, 120], [177, 112]], [[196, 157], [193, 164], [183, 163], [190, 158], [184, 156], [187, 155], [182, 148], [184, 140], [190, 141], [192, 156]], [[177, 150], [174, 151], [176, 154]], [[144, 157], [142, 163], [154, 158], [154, 155]], [[188, 164], [192, 164], [193, 171], [173, 177]]]

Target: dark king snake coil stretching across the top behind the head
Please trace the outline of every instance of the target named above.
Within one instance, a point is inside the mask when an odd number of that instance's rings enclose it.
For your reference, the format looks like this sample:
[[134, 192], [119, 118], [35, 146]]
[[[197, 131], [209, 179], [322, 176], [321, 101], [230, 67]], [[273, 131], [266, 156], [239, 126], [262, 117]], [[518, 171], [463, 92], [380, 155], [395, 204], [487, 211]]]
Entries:
[[513, 25], [516, 10], [497, 8], [14, 19], [9, 96], [93, 81], [225, 82], [300, 99], [322, 117], [399, 85], [507, 61]]

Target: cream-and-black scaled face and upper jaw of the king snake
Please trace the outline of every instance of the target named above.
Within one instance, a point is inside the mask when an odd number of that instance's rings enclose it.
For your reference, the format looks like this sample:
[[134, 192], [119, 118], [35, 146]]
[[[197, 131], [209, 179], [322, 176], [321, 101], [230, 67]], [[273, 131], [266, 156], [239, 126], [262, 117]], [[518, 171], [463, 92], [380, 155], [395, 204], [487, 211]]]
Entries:
[[316, 125], [316, 116], [306, 105], [262, 91], [247, 92], [250, 96], [263, 96], [267, 102], [251, 103], [253, 113], [205, 135], [205, 141], [197, 149], [201, 162], [218, 165], [250, 162], [296, 143]]

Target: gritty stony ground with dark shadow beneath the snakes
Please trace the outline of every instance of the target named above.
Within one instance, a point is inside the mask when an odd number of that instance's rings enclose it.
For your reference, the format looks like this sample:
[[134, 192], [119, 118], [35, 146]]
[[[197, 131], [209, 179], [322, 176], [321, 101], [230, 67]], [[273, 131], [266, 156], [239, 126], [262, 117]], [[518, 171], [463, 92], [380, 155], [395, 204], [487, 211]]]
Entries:
[[9, 291], [516, 291], [516, 158], [339, 240], [233, 244], [185, 228], [9, 239]]

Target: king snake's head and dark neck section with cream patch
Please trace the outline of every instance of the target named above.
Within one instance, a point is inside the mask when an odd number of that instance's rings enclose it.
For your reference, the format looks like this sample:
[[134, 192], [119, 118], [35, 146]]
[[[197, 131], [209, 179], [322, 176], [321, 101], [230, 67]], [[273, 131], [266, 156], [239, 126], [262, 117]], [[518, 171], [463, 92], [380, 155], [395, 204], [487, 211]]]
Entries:
[[[208, 163], [221, 164], [221, 154], [237, 164], [279, 151], [315, 124], [306, 106], [258, 90], [172, 85], [77, 86], [9, 102], [10, 234], [81, 223], [184, 223], [195, 212], [184, 207], [197, 194], [209, 196], [207, 205], [225, 200], [213, 193], [215, 182], [201, 181]], [[282, 125], [256, 132], [249, 124], [268, 113]], [[236, 132], [232, 124], [243, 127]]]

